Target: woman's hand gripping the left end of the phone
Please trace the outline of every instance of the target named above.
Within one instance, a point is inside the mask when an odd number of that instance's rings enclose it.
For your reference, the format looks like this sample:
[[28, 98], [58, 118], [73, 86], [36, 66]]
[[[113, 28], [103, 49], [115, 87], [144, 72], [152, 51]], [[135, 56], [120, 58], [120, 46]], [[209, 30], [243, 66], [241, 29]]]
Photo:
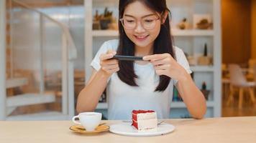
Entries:
[[119, 71], [118, 60], [111, 59], [116, 54], [116, 51], [107, 51], [106, 54], [100, 56], [100, 71], [103, 71], [104, 76], [110, 77], [116, 71]]

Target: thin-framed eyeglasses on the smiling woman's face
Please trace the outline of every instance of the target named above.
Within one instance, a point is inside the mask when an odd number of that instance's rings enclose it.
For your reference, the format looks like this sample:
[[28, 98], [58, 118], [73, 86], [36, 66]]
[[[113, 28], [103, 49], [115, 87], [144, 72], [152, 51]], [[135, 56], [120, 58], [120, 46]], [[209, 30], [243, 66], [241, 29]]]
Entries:
[[[140, 24], [142, 24], [142, 27], [147, 30], [151, 30], [155, 28], [155, 25], [157, 24], [157, 20], [160, 19], [160, 16], [149, 16], [145, 17], [143, 19], [140, 19]], [[132, 30], [137, 27], [137, 19], [134, 19], [129, 16], [125, 16], [124, 18], [120, 19], [122, 25], [124, 26], [124, 29]]]

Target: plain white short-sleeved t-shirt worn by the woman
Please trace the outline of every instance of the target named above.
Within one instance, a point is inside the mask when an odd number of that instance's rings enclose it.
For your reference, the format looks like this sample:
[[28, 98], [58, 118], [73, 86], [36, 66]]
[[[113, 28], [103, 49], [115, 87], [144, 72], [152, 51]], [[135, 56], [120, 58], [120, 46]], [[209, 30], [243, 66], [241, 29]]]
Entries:
[[[101, 68], [99, 56], [106, 51], [118, 48], [118, 40], [105, 41], [91, 62], [97, 71]], [[191, 74], [188, 61], [181, 49], [175, 47], [176, 60]], [[136, 83], [139, 87], [132, 87], [122, 82], [116, 73], [112, 74], [106, 88], [108, 102], [108, 119], [132, 119], [133, 109], [155, 110], [158, 119], [168, 119], [170, 102], [173, 98], [174, 79], [170, 81], [164, 92], [154, 92], [159, 84], [159, 76], [152, 64], [140, 65], [134, 63], [135, 74], [139, 77]]]

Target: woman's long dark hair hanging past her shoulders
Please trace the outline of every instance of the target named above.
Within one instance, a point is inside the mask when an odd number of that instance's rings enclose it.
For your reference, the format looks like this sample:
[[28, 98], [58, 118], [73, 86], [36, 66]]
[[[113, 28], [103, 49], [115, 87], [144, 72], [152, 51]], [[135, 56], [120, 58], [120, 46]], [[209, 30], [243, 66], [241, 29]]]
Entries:
[[[119, 19], [122, 19], [126, 6], [134, 1], [141, 1], [143, 4], [159, 14], [164, 14], [165, 11], [169, 11], [165, 0], [119, 0]], [[122, 26], [121, 21], [119, 21], [119, 47], [117, 49], [117, 54], [134, 56], [134, 51], [134, 43], [128, 38], [127, 34], [125, 34], [124, 27]], [[163, 53], [169, 53], [175, 59], [173, 37], [170, 34], [169, 17], [167, 17], [164, 24], [161, 24], [160, 33], [154, 42], [153, 54]], [[138, 86], [135, 82], [135, 79], [138, 78], [138, 76], [134, 72], [133, 61], [119, 61], [119, 69], [120, 70], [117, 72], [117, 75], [122, 82], [129, 84], [130, 86]], [[155, 92], [165, 91], [169, 83], [170, 77], [161, 75], [160, 82], [157, 85]]]

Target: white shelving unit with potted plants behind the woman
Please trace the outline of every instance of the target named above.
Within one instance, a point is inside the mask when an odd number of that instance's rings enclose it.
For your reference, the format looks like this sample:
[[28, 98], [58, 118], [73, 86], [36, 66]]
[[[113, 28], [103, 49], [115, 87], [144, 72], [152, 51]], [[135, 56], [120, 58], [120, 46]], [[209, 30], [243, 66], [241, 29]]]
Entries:
[[[209, 54], [213, 57], [211, 66], [191, 66], [196, 85], [201, 88], [202, 82], [207, 83], [211, 91], [207, 101], [207, 114], [209, 117], [221, 116], [221, 1], [220, 0], [167, 0], [172, 12], [171, 32], [175, 39], [175, 46], [180, 47], [188, 54], [198, 56], [203, 53], [204, 43], [209, 47]], [[91, 76], [91, 60], [98, 51], [99, 46], [109, 39], [118, 39], [119, 33], [115, 30], [93, 30], [92, 19], [96, 9], [99, 13], [104, 7], [114, 11], [118, 15], [118, 1], [116, 0], [87, 0], [85, 1], [85, 57], [86, 57], [86, 81]], [[117, 13], [117, 14], [116, 14]], [[193, 24], [193, 14], [209, 14], [213, 21], [214, 29], [175, 29], [175, 24], [183, 17]], [[117, 17], [116, 17], [117, 18]], [[171, 108], [185, 109], [183, 102], [172, 102]], [[107, 109], [106, 103], [99, 103], [96, 109]]]

